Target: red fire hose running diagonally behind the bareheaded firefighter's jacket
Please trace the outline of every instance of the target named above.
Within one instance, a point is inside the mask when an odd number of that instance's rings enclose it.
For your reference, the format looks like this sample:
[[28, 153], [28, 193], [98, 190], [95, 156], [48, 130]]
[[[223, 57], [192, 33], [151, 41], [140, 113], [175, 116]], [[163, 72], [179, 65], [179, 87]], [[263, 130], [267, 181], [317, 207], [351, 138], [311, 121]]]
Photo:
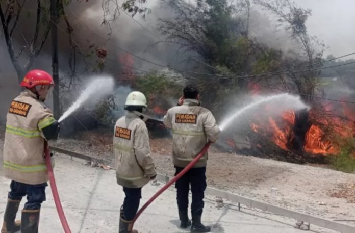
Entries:
[[143, 213], [143, 211], [148, 207], [148, 205], [153, 202], [160, 194], [162, 194], [167, 188], [169, 188], [176, 180], [180, 179], [181, 176], [183, 176], [188, 170], [190, 170], [201, 157], [207, 152], [208, 148], [210, 147], [211, 142], [208, 142], [205, 147], [199, 152], [199, 154], [187, 165], [179, 174], [177, 174], [175, 177], [173, 177], [166, 185], [164, 185], [163, 188], [161, 188], [156, 194], [154, 194], [153, 197], [150, 197], [150, 199], [142, 206], [142, 208], [138, 211], [136, 216], [133, 219], [133, 223], [138, 219], [138, 217]]

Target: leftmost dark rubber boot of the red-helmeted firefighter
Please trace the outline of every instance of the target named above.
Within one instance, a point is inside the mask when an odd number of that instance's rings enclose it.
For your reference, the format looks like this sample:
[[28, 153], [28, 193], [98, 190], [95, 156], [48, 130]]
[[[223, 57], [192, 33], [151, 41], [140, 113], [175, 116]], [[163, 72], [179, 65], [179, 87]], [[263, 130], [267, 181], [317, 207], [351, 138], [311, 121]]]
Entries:
[[1, 233], [14, 233], [21, 229], [21, 221], [15, 221], [21, 200], [8, 199]]

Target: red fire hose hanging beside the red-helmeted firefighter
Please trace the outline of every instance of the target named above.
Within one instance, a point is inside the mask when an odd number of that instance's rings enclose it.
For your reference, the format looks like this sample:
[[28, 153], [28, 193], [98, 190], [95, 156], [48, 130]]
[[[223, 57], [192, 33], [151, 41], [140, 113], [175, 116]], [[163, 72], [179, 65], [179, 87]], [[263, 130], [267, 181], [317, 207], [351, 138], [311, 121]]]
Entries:
[[45, 164], [47, 166], [48, 175], [49, 175], [50, 188], [52, 189], [53, 198], [54, 198], [54, 202], [56, 203], [56, 208], [58, 211], [60, 222], [62, 223], [64, 232], [71, 233], [68, 222], [66, 221], [64, 215], [62, 204], [60, 202], [57, 185], [56, 185], [56, 179], [54, 178], [54, 173], [53, 173], [52, 161], [50, 161], [49, 147], [46, 141], [44, 143], [44, 155], [45, 155]]

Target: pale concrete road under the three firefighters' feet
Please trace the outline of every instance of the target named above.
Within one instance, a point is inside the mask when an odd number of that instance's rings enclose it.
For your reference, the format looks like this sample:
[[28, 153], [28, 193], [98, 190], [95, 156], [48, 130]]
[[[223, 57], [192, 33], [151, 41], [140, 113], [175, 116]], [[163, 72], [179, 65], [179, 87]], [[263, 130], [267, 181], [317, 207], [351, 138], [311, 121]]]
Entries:
[[[0, 174], [3, 173], [2, 169], [1, 167]], [[124, 193], [122, 188], [116, 184], [113, 170], [91, 168], [82, 160], [70, 160], [67, 156], [56, 156], [55, 175], [64, 212], [73, 233], [118, 232], [119, 208]], [[9, 183], [4, 176], [0, 177], [0, 219], [3, 219]], [[162, 185], [146, 185], [143, 188], [141, 205]], [[47, 201], [44, 202], [41, 210], [40, 232], [64, 232], [49, 186], [46, 194]], [[173, 188], [164, 192], [141, 215], [135, 228], [141, 233], [189, 232], [189, 230], [179, 229], [175, 195]], [[238, 212], [230, 206], [217, 209], [213, 200], [213, 197], [207, 197], [203, 215], [204, 223], [211, 225], [212, 232], [301, 232], [292, 225], [283, 223], [281, 217], [275, 221], [274, 218], [270, 220], [253, 213]], [[23, 203], [24, 200], [21, 204]]]

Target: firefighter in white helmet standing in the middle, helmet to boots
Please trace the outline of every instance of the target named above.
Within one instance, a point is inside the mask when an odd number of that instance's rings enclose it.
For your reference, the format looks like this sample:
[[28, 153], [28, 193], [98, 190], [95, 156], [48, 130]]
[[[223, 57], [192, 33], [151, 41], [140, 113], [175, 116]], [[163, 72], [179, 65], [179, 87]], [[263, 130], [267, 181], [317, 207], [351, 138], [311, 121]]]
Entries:
[[121, 206], [119, 233], [133, 232], [133, 219], [138, 211], [142, 187], [156, 175], [150, 157], [149, 135], [145, 125], [147, 117], [142, 113], [147, 107], [143, 93], [131, 92], [124, 109], [128, 114], [117, 120], [113, 147], [117, 184], [123, 186], [125, 198]]

